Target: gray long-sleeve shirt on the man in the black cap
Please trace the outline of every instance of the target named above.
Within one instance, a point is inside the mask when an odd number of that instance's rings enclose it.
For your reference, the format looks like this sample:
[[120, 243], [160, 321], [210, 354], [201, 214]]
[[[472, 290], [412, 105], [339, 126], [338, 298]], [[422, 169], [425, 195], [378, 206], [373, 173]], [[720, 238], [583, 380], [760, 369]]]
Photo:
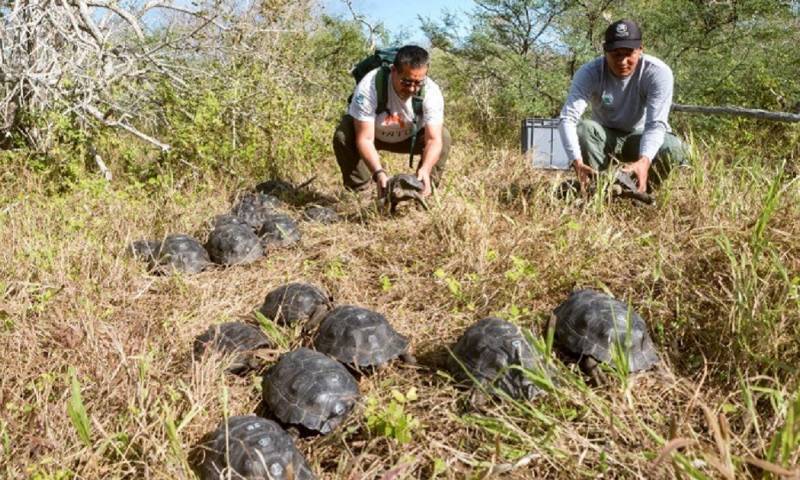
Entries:
[[577, 125], [586, 107], [601, 125], [626, 132], [644, 129], [639, 155], [651, 161], [671, 131], [667, 117], [672, 106], [672, 70], [661, 60], [642, 55], [636, 70], [618, 78], [598, 57], [583, 65], [572, 79], [561, 109], [561, 142], [570, 160], [581, 159]]

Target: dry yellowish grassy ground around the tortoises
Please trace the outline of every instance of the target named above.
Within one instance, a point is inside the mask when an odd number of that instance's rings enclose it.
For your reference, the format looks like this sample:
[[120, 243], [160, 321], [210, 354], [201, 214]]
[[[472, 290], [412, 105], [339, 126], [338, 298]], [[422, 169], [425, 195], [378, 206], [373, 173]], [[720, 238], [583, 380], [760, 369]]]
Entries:
[[[256, 179], [87, 181], [47, 196], [38, 177], [9, 168], [0, 476], [192, 478], [191, 447], [260, 398], [257, 375], [192, 359], [193, 338], [252, 319], [268, 291], [292, 280], [386, 314], [422, 364], [363, 378], [343, 428], [298, 442], [321, 478], [797, 476], [798, 182], [780, 165], [703, 150], [657, 207], [642, 208], [556, 200], [557, 176], [507, 152], [455, 147], [432, 211], [397, 218], [342, 193], [329, 159], [313, 189], [349, 221], [304, 224], [299, 248], [185, 277], [147, 274], [126, 245], [169, 232], [204, 238], [208, 220]], [[404, 159], [393, 161], [397, 170]], [[575, 287], [630, 300], [664, 368], [609, 372], [609, 385], [590, 388], [554, 360], [559, 383], [547, 396], [471, 408], [438, 368], [444, 347], [499, 315], [547, 350], [549, 314]]]

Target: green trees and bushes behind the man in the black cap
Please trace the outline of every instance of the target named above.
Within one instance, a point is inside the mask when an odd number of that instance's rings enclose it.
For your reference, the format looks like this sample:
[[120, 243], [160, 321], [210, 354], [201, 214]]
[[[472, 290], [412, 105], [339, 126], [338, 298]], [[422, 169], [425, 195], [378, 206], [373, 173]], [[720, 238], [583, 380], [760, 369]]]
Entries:
[[[464, 27], [452, 15], [424, 19], [423, 30], [441, 50], [431, 71], [443, 85], [448, 118], [468, 126], [459, 136], [513, 144], [520, 120], [558, 114], [571, 77], [601, 54], [606, 26], [623, 17], [642, 25], [646, 53], [672, 67], [677, 103], [797, 109], [800, 51], [792, 45], [800, 40], [800, 17], [792, 8], [778, 0], [492, 0], [475, 7], [467, 35], [458, 34]], [[710, 115], [671, 121], [701, 137], [797, 153], [796, 126]], [[787, 141], [765, 144], [765, 135]]]

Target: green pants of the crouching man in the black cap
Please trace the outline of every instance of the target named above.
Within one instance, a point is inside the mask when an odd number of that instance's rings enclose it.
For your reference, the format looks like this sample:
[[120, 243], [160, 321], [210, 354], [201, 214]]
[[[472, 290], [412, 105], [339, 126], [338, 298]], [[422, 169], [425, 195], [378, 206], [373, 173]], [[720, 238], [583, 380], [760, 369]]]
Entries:
[[[624, 132], [604, 127], [594, 120], [582, 120], [578, 123], [578, 141], [583, 163], [597, 171], [609, 167], [611, 155], [622, 162], [638, 160], [641, 140], [640, 131]], [[688, 165], [688, 149], [674, 133], [667, 133], [664, 135], [664, 143], [651, 160], [648, 183], [658, 185], [669, 175], [672, 167]]]

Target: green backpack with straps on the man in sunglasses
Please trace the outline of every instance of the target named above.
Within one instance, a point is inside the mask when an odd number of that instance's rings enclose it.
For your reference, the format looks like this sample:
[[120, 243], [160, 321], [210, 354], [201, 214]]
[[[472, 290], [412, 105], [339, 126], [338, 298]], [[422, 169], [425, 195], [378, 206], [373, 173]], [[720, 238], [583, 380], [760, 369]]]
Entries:
[[[358, 62], [350, 71], [350, 74], [356, 81], [356, 85], [358, 85], [367, 73], [376, 68], [380, 68], [378, 74], [375, 75], [375, 90], [378, 93], [378, 105], [375, 108], [375, 114], [389, 113], [389, 107], [387, 106], [390, 88], [389, 76], [391, 74], [391, 65], [394, 63], [394, 57], [397, 55], [398, 50], [400, 50], [398, 47], [376, 49], [375, 53]], [[414, 111], [414, 129], [411, 133], [411, 152], [408, 156], [409, 168], [414, 166], [414, 143], [417, 140], [417, 133], [419, 133], [419, 118], [422, 116], [422, 102], [424, 99], [424, 86], [419, 90], [419, 93], [411, 97], [411, 108]], [[350, 98], [347, 99], [347, 103], [349, 104], [352, 100], [353, 96], [350, 95]]]

